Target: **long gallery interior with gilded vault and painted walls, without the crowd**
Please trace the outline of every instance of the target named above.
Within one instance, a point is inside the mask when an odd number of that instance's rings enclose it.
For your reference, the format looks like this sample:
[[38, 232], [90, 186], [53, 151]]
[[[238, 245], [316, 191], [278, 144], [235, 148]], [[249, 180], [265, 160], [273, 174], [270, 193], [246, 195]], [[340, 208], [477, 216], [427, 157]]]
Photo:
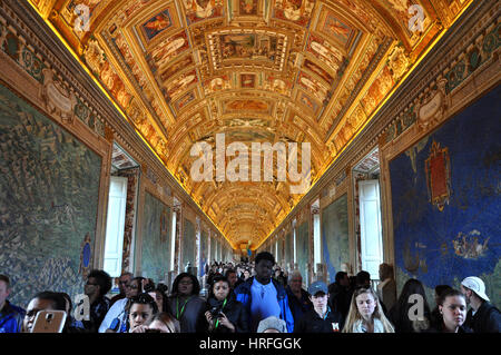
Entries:
[[500, 32], [490, 0], [0, 1], [0, 310], [96, 269], [207, 297], [261, 252], [387, 314], [410, 279], [501, 307]]

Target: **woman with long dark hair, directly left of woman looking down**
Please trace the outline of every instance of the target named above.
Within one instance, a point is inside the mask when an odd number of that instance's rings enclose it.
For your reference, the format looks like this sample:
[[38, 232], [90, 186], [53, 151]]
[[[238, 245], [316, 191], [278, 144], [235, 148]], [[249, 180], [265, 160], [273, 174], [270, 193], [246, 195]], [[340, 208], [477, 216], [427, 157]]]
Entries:
[[203, 333], [206, 331], [204, 317], [205, 300], [199, 297], [200, 284], [188, 273], [179, 274], [173, 283], [168, 305], [180, 324], [180, 333]]

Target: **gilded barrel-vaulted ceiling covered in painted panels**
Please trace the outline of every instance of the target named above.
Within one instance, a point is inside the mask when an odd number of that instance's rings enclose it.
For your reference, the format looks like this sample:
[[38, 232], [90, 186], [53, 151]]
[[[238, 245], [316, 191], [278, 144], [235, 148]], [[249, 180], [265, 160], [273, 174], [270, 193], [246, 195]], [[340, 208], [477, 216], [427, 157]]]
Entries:
[[193, 145], [310, 142], [314, 184], [470, 2], [30, 0], [236, 248], [304, 194], [196, 183]]

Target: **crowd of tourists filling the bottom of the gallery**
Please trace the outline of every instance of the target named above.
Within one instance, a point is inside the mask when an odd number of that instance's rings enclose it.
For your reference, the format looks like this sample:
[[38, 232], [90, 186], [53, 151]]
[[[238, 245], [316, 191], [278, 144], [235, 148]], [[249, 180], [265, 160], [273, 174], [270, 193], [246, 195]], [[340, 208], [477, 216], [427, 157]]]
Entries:
[[380, 266], [376, 287], [367, 272], [338, 272], [333, 284], [316, 280], [304, 289], [301, 273], [287, 275], [267, 252], [250, 263], [214, 262], [204, 274], [200, 285], [181, 273], [169, 289], [125, 273], [119, 294], [109, 298], [111, 277], [92, 270], [84, 287], [89, 312], [80, 321], [75, 309], [81, 305], [73, 307], [66, 293], [40, 292], [26, 309], [12, 305], [10, 278], [0, 275], [0, 333], [31, 333], [40, 310], [66, 312], [62, 333], [499, 333], [501, 327], [501, 314], [475, 276], [464, 278], [461, 289], [438, 285], [436, 307], [430, 309], [415, 278], [396, 298], [387, 264]]

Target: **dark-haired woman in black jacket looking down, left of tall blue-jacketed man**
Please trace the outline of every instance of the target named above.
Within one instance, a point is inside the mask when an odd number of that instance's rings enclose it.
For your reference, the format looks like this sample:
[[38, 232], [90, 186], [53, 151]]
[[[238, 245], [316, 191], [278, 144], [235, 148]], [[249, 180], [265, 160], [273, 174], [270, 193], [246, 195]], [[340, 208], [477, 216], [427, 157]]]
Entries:
[[212, 333], [247, 333], [248, 315], [244, 305], [230, 292], [229, 280], [217, 275], [213, 279], [207, 298], [205, 318]]

